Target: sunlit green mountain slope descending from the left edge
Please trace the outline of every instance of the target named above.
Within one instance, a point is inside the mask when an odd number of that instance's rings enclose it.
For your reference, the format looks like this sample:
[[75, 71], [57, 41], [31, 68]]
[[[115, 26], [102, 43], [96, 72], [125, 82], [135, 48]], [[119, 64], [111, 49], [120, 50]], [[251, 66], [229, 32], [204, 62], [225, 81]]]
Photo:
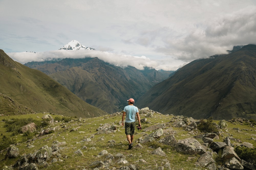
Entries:
[[41, 71], [13, 61], [3, 50], [0, 50], [0, 71], [0, 93], [36, 112], [54, 112], [77, 117], [106, 114], [79, 99]]

